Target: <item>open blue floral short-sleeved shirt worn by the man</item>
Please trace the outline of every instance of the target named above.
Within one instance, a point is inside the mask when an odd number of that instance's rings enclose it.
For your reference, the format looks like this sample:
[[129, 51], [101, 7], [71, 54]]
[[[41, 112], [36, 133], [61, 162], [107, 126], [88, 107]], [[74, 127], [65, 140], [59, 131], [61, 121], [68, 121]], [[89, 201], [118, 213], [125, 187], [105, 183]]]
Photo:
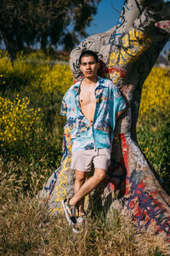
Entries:
[[79, 102], [82, 80], [65, 93], [60, 114], [65, 115], [71, 129], [72, 151], [111, 148], [116, 113], [126, 108], [120, 91], [109, 79], [101, 79], [95, 88], [96, 108], [93, 125], [82, 114]]

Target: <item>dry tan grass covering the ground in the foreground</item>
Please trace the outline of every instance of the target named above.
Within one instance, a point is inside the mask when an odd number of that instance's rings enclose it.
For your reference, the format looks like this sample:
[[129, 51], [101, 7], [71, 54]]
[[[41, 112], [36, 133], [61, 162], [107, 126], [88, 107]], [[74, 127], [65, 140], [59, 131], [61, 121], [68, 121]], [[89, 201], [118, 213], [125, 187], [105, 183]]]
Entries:
[[88, 216], [76, 235], [65, 217], [53, 218], [36, 197], [24, 196], [14, 175], [0, 174], [0, 255], [170, 255], [163, 237], [137, 233], [118, 212], [107, 222], [102, 212]]

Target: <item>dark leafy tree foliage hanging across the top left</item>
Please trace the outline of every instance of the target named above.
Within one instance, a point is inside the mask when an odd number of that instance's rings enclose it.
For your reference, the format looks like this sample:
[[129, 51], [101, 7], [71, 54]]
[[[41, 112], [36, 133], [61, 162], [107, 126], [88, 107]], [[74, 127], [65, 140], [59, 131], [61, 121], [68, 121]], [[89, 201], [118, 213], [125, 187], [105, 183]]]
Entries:
[[12, 60], [17, 51], [39, 43], [63, 44], [70, 51], [97, 13], [100, 0], [3, 0], [0, 1], [0, 40]]

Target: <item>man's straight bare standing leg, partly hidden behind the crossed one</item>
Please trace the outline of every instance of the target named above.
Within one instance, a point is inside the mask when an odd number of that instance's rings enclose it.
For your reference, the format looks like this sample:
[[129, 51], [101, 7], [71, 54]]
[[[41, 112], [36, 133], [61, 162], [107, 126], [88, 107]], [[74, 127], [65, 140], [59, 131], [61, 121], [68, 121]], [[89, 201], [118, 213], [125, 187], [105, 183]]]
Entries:
[[[75, 180], [75, 187], [74, 187], [75, 195], [81, 189], [82, 184], [86, 180], [86, 177], [87, 177], [87, 172], [76, 171], [76, 180]], [[84, 212], [84, 198], [82, 198], [82, 200], [78, 202], [77, 207], [78, 207], [79, 215], [81, 215], [82, 212]]]

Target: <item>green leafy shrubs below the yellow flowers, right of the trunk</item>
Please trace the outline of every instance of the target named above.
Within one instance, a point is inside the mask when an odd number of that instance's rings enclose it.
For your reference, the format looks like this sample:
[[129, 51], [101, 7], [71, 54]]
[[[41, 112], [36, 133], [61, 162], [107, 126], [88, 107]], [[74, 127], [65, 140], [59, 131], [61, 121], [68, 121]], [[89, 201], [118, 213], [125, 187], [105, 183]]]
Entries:
[[[159, 118], [158, 118], [159, 119]], [[170, 183], [170, 119], [139, 121], [139, 146], [167, 186]]]

